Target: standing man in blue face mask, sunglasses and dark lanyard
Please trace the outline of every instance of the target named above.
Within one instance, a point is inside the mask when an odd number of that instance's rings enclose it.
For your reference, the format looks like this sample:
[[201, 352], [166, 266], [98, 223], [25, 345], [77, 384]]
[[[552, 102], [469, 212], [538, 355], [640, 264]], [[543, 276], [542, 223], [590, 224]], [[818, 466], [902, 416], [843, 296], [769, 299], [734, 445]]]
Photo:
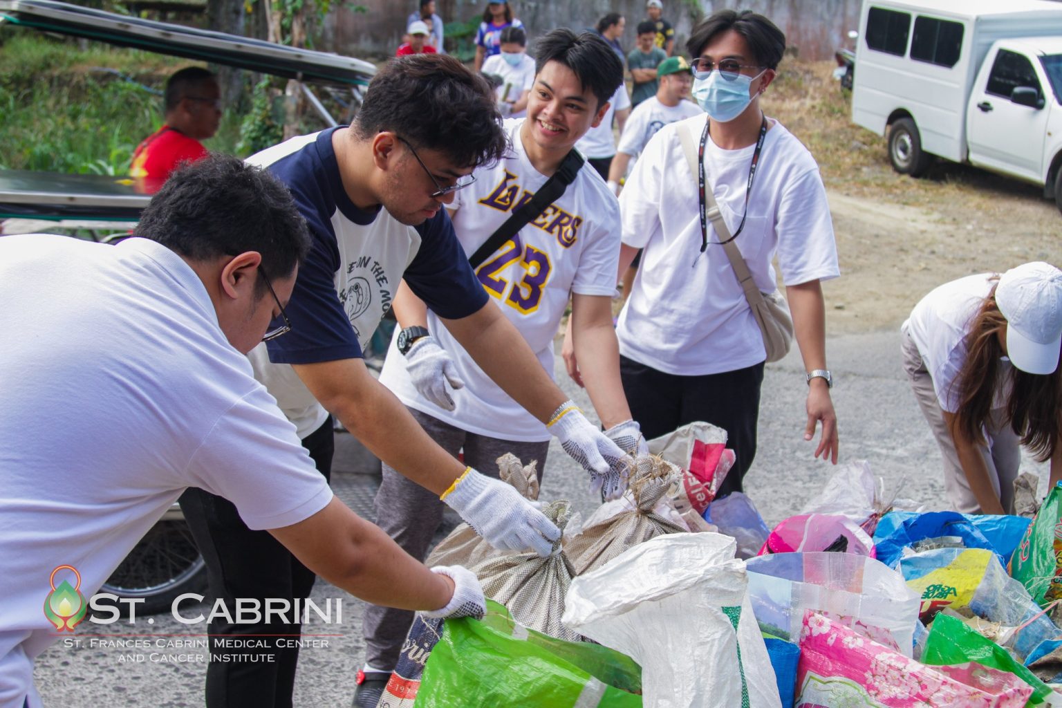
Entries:
[[[815, 159], [760, 109], [777, 74], [785, 35], [766, 17], [724, 10], [697, 27], [693, 98], [707, 113], [665, 125], [646, 145], [619, 197], [619, 273], [643, 248], [641, 267], [619, 315], [620, 370], [631, 414], [653, 438], [693, 420], [729, 433], [737, 463], [720, 494], [742, 488], [756, 453], [766, 347], [701, 187], [761, 292], [775, 288], [777, 255], [796, 343], [806, 367], [807, 424], [822, 433], [815, 455], [837, 462], [837, 417], [826, 367], [820, 281], [839, 275], [826, 193]], [[691, 173], [688, 131], [700, 175]], [[706, 202], [705, 202], [706, 204]], [[666, 304], [666, 307], [661, 307]], [[568, 370], [578, 375], [578, 362]]]

